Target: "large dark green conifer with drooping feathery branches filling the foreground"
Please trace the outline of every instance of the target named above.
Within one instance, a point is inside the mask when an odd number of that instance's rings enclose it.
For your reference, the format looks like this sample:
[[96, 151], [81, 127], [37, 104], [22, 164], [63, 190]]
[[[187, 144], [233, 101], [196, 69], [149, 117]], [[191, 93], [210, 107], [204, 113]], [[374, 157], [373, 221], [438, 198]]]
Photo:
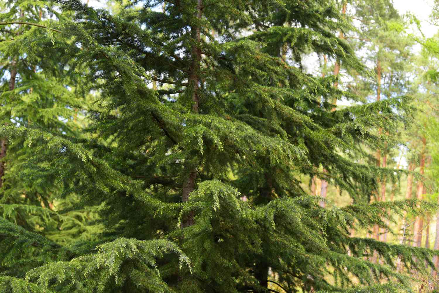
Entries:
[[[399, 174], [360, 163], [364, 145], [399, 146], [377, 130], [414, 124], [410, 98], [332, 111], [336, 100], [359, 98], [333, 86], [338, 76], [303, 70], [307, 55], [324, 54], [369, 74], [336, 37], [353, 29], [342, 3], [127, 0], [111, 11], [79, 0], [47, 4], [58, 20], [32, 28], [40, 36], [19, 48], [42, 54], [59, 74], [34, 87], [47, 89], [44, 97], [63, 88], [63, 111], [86, 116], [76, 126], [59, 122], [62, 130], [44, 119], [7, 123], [0, 136], [27, 142], [11, 176], [26, 191], [36, 184], [40, 196], [55, 193], [62, 207], [25, 212], [80, 218], [65, 221], [85, 228], [36, 232], [35, 223], [4, 215], [4, 292], [278, 292], [273, 283], [286, 292], [394, 292], [411, 290], [405, 272], [429, 272], [433, 250], [350, 236], [435, 206], [370, 203], [377, 178]], [[79, 89], [84, 100], [63, 100]], [[53, 123], [72, 119], [55, 109], [47, 111]], [[321, 208], [325, 199], [303, 189], [306, 175], [348, 192], [353, 204]], [[2, 207], [6, 215], [18, 209], [12, 204]], [[98, 216], [87, 220], [90, 213]], [[27, 271], [10, 267], [37, 255]]]

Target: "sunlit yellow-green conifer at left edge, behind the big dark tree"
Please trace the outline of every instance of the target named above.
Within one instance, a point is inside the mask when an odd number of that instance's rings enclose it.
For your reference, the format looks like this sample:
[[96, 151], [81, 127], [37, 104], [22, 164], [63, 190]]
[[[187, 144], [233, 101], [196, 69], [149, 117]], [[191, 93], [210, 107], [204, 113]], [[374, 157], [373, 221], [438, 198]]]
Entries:
[[[7, 1], [1, 5], [1, 19], [10, 22], [47, 25], [48, 18], [54, 16], [43, 1]], [[92, 239], [91, 232], [98, 230], [87, 223], [97, 214], [92, 207], [68, 210], [79, 202], [77, 196], [61, 200], [66, 182], [40, 177], [40, 170], [47, 170], [48, 165], [33, 160], [39, 149], [47, 147], [47, 135], [83, 137], [77, 119], [81, 113], [74, 110], [84, 102], [76, 89], [78, 77], [63, 74], [64, 64], [59, 62], [62, 52], [56, 47], [38, 47], [39, 41], [49, 45], [50, 38], [54, 38], [47, 31], [10, 24], [2, 26], [0, 37], [1, 123], [7, 129], [24, 127], [36, 134], [1, 141], [0, 271], [24, 276], [31, 268], [64, 258], [68, 251], [61, 243], [74, 242], [78, 237]], [[29, 47], [23, 46], [26, 42]], [[47, 132], [45, 137], [41, 129]]]

